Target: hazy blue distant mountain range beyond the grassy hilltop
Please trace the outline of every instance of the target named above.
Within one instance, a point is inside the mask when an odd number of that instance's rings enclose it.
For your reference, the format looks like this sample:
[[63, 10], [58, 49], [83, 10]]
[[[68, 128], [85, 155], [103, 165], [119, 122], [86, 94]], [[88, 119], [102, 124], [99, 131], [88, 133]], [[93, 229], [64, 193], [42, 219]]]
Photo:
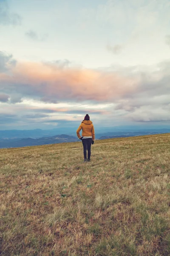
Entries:
[[[38, 129], [37, 129], [38, 130]], [[38, 135], [37, 130], [28, 130], [29, 133], [31, 131], [36, 131]], [[12, 132], [12, 134], [16, 135], [16, 137], [7, 137], [7, 133], [3, 134], [1, 133], [0, 137], [0, 148], [18, 148], [18, 147], [26, 147], [26, 146], [35, 146], [35, 145], [47, 145], [47, 144], [56, 144], [56, 143], [66, 143], [66, 142], [76, 142], [79, 141], [77, 137], [70, 136], [66, 134], [61, 135], [55, 135], [52, 137], [39, 137], [39, 138], [31, 138], [31, 137], [24, 137], [24, 134], [28, 134], [28, 131], [21, 131], [21, 137], [19, 136], [19, 130], [12, 130], [15, 132]], [[2, 132], [2, 131], [0, 131]], [[44, 132], [43, 130], [40, 130], [40, 134]], [[34, 132], [33, 132], [34, 133]], [[170, 133], [170, 129], [152, 129], [152, 130], [144, 130], [144, 131], [116, 131], [116, 132], [105, 132], [101, 134], [96, 134], [97, 140], [104, 140], [104, 139], [111, 139], [111, 138], [118, 138], [118, 137], [134, 137], [134, 136], [143, 136], [143, 135], [152, 135], [152, 134], [164, 134], [164, 133]], [[34, 133], [35, 135], [35, 133]]]

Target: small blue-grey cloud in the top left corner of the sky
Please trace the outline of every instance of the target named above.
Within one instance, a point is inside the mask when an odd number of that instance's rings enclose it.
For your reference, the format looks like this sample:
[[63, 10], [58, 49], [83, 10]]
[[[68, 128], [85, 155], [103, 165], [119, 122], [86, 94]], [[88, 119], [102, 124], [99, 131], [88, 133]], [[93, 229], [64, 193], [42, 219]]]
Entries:
[[20, 25], [21, 17], [9, 10], [6, 0], [0, 0], [0, 25]]

